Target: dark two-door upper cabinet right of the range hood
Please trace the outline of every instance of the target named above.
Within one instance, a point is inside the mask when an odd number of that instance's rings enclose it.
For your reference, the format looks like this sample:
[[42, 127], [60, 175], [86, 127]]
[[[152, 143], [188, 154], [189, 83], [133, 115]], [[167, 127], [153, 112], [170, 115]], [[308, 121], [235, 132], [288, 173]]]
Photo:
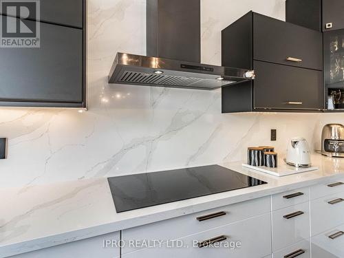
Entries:
[[249, 12], [222, 30], [222, 65], [256, 78], [222, 88], [222, 112], [323, 109], [322, 34]]

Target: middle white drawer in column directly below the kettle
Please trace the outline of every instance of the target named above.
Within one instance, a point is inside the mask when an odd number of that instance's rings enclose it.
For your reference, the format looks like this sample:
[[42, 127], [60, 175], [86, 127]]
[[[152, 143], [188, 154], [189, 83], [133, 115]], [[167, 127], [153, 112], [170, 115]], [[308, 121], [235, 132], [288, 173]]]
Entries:
[[272, 212], [272, 250], [310, 238], [308, 202]]

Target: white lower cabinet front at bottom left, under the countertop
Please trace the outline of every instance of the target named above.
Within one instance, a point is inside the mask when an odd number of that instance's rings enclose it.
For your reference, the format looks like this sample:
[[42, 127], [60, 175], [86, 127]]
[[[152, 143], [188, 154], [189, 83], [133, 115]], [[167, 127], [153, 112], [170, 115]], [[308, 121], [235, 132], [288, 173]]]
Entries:
[[[119, 240], [120, 232], [115, 232], [33, 252], [25, 252], [11, 258], [119, 258], [120, 248], [116, 247], [115, 244]], [[108, 243], [107, 247], [105, 247], [105, 241]]]

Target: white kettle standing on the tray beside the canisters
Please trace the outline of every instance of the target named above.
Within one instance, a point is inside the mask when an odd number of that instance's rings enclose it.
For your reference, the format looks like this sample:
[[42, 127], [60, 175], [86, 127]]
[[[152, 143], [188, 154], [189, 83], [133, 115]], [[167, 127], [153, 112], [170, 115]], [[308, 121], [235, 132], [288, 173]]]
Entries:
[[293, 137], [288, 143], [286, 162], [292, 166], [311, 166], [310, 147], [302, 137]]

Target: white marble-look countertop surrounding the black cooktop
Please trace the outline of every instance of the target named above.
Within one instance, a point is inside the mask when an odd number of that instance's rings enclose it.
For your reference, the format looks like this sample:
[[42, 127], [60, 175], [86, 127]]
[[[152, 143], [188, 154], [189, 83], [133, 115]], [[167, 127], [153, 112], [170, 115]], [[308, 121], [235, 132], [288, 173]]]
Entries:
[[158, 222], [344, 176], [344, 159], [313, 155], [319, 170], [275, 177], [221, 164], [268, 184], [116, 213], [106, 178], [0, 189], [0, 257]]

